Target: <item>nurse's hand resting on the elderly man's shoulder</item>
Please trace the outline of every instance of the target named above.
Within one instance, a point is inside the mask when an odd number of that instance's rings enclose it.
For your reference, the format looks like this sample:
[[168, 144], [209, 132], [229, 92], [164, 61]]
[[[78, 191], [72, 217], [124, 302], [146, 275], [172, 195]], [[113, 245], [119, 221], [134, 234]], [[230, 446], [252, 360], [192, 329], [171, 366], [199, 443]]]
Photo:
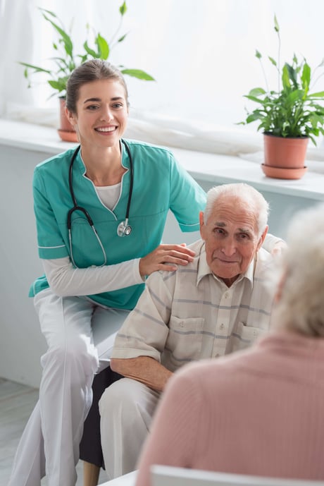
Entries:
[[139, 273], [149, 275], [157, 270], [174, 272], [176, 265], [187, 265], [194, 260], [194, 251], [187, 248], [185, 243], [180, 245], [159, 245], [146, 257], [139, 260]]

